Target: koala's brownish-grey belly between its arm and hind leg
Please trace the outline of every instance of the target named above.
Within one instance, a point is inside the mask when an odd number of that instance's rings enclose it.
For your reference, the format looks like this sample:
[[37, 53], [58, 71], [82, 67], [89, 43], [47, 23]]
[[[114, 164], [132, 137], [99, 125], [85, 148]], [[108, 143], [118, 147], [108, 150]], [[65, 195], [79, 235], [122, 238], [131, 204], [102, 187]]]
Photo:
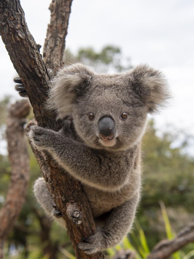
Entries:
[[107, 192], [83, 185], [84, 192], [88, 197], [93, 216], [98, 217], [129, 200], [132, 192], [129, 189]]

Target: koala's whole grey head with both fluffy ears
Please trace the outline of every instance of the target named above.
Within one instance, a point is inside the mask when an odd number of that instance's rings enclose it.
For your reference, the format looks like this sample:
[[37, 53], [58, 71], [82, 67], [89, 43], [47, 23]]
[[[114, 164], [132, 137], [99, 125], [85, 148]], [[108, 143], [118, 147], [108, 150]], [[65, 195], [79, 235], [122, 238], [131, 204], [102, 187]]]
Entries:
[[58, 117], [73, 117], [78, 135], [98, 149], [125, 150], [142, 137], [148, 113], [169, 97], [164, 75], [147, 65], [123, 74], [95, 74], [80, 63], [53, 79], [50, 106]]

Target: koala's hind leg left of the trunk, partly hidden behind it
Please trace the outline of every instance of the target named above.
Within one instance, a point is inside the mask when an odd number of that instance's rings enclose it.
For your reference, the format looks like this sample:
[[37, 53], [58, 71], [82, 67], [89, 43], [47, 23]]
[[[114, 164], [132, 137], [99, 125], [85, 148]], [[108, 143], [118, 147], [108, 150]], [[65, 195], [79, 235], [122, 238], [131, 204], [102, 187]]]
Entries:
[[47, 189], [46, 183], [43, 178], [38, 178], [34, 184], [34, 194], [37, 201], [42, 206], [44, 211], [49, 215], [53, 216], [58, 223], [65, 226], [65, 222], [62, 218], [61, 212], [57, 209], [49, 190]]

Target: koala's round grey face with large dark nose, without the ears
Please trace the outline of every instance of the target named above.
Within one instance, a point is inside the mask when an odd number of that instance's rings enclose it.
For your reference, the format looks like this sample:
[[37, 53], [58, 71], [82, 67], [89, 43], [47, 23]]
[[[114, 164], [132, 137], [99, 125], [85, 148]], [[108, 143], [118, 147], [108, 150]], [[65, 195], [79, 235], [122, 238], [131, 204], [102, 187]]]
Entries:
[[93, 77], [86, 94], [74, 105], [75, 128], [87, 145], [125, 150], [140, 140], [146, 124], [147, 107], [122, 84], [116, 77]]

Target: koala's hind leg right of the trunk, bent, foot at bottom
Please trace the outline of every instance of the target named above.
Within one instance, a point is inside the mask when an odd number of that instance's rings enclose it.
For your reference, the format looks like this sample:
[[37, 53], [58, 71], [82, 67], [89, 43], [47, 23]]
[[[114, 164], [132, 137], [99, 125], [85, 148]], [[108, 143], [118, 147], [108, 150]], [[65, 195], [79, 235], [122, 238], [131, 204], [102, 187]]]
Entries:
[[138, 204], [138, 194], [121, 206], [113, 209], [102, 228], [96, 228], [96, 234], [85, 238], [78, 246], [87, 254], [115, 246], [129, 232]]

